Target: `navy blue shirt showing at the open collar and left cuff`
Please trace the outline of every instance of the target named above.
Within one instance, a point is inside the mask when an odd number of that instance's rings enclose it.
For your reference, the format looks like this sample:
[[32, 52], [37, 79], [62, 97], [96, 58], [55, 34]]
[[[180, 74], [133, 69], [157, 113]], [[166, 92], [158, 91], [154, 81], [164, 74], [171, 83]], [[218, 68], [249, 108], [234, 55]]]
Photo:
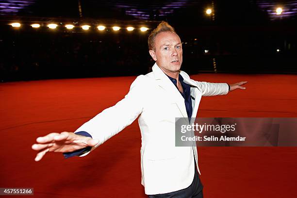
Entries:
[[[168, 76], [168, 78], [175, 85], [175, 87], [178, 89], [177, 80], [174, 78], [171, 78], [170, 76]], [[180, 92], [180, 93], [181, 93], [182, 98], [184, 99], [184, 105], [187, 110], [189, 122], [191, 122], [191, 116], [192, 116], [192, 112], [193, 112], [192, 100], [191, 100], [191, 86], [189, 84], [183, 82], [183, 78], [182, 78], [181, 74], [179, 74], [179, 82], [181, 82], [181, 86], [183, 89], [183, 92], [182, 93]], [[83, 135], [83, 136], [92, 138], [92, 136], [88, 132], [76, 132], [75, 134], [79, 134], [79, 135]], [[65, 153], [63, 153], [63, 155], [65, 158], [69, 158], [69, 157], [73, 157], [75, 155], [82, 155], [83, 153], [86, 153], [90, 150], [91, 150], [91, 147], [86, 147], [86, 148], [81, 148], [79, 150], [75, 150], [72, 152], [65, 152]]]

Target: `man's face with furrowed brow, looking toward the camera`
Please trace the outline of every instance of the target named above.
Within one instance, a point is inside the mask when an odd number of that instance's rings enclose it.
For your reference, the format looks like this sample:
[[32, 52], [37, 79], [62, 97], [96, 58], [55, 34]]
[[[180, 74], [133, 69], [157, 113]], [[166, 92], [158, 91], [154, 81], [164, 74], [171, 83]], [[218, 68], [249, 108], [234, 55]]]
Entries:
[[158, 33], [155, 38], [155, 51], [149, 50], [149, 54], [165, 74], [178, 72], [182, 63], [180, 37], [171, 32]]

